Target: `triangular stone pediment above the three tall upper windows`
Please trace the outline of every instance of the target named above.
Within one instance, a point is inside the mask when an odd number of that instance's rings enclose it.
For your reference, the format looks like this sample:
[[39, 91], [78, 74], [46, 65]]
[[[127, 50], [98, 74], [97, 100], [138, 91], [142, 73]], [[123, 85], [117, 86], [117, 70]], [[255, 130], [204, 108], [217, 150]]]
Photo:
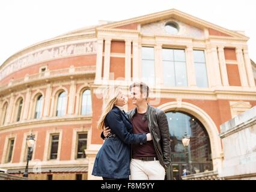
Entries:
[[[177, 35], [201, 38], [204, 36], [204, 29], [207, 29], [209, 31], [209, 35], [213, 37], [239, 38], [242, 40], [249, 40], [248, 37], [241, 34], [240, 32], [222, 28], [221, 26], [215, 25], [175, 9], [135, 17], [132, 19], [121, 20], [119, 22], [112, 22], [106, 25], [100, 25], [97, 28], [130, 29], [141, 31], [142, 34], [148, 34], [148, 32], [153, 32], [153, 34], [166, 34], [166, 32], [163, 31], [164, 29], [162, 29], [162, 26], [166, 21], [169, 20], [175, 20], [175, 22], [177, 22], [180, 26], [180, 31]], [[157, 29], [160, 29], [160, 31]]]

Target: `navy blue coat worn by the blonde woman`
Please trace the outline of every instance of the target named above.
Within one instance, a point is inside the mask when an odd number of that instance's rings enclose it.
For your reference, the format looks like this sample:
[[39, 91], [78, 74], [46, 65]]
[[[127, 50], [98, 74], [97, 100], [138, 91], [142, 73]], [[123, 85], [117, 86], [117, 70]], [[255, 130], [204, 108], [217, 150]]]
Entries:
[[147, 142], [146, 134], [132, 134], [129, 118], [118, 107], [108, 113], [105, 126], [115, 137], [105, 139], [100, 148], [92, 175], [106, 178], [123, 179], [130, 175], [130, 144]]

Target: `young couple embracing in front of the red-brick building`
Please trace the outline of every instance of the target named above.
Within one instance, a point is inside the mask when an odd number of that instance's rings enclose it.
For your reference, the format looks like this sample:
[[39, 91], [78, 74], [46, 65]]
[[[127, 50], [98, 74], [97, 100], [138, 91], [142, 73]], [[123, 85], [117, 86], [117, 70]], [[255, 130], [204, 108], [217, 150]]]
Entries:
[[166, 115], [147, 104], [145, 83], [133, 83], [129, 90], [135, 109], [124, 112], [126, 97], [118, 87], [106, 104], [98, 125], [105, 142], [92, 175], [106, 180], [128, 180], [129, 176], [131, 180], [162, 180], [171, 163]]

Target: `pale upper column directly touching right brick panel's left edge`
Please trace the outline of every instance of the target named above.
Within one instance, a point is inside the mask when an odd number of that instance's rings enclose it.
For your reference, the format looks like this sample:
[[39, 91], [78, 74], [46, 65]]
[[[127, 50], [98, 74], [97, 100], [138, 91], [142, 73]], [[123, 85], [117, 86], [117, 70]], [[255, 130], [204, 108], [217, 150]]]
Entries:
[[227, 66], [225, 62], [224, 47], [218, 46], [219, 66], [221, 68], [221, 79], [223, 86], [229, 86]]

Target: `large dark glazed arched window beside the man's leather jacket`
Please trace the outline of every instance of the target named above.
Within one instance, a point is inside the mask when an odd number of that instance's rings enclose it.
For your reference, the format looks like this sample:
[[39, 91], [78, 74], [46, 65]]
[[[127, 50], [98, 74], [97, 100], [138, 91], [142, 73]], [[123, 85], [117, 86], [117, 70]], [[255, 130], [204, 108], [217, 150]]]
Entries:
[[[184, 112], [167, 112], [171, 139], [171, 179], [181, 179], [182, 173], [199, 173], [212, 170], [212, 152], [209, 135], [204, 125], [194, 116]], [[190, 136], [185, 148], [182, 139]], [[192, 174], [191, 173], [191, 174]]]

